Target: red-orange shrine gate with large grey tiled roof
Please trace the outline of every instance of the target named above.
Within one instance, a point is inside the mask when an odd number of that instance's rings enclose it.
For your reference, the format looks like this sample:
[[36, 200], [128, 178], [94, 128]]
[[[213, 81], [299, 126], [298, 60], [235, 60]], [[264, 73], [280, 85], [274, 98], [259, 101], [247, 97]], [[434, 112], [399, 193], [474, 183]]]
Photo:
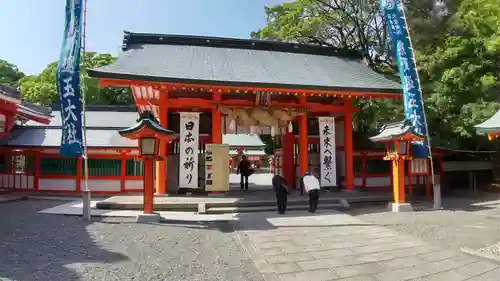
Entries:
[[[382, 151], [353, 147], [352, 114], [359, 110], [354, 106], [357, 99], [401, 99], [402, 90], [371, 70], [360, 53], [260, 40], [125, 32], [117, 61], [88, 72], [101, 87], [130, 87], [139, 113], [151, 111], [162, 126], [178, 134], [180, 116], [198, 113], [196, 125], [211, 130], [210, 138], [197, 136], [201, 154], [206, 143], [222, 143], [226, 133], [281, 138], [275, 172], [295, 186], [307, 171], [320, 177], [325, 173], [318, 118], [333, 117], [328, 138], [333, 138], [334, 149], [328, 152], [335, 157], [328, 166], [334, 166], [339, 179], [335, 185], [352, 190], [391, 184]], [[183, 138], [161, 148], [168, 160], [157, 163], [160, 194], [178, 187], [168, 177], [181, 175], [185, 163], [170, 155], [182, 146]], [[370, 160], [375, 163], [368, 173]], [[203, 158], [196, 164], [202, 162]], [[198, 183], [193, 187], [203, 188], [204, 171], [195, 172]]]

